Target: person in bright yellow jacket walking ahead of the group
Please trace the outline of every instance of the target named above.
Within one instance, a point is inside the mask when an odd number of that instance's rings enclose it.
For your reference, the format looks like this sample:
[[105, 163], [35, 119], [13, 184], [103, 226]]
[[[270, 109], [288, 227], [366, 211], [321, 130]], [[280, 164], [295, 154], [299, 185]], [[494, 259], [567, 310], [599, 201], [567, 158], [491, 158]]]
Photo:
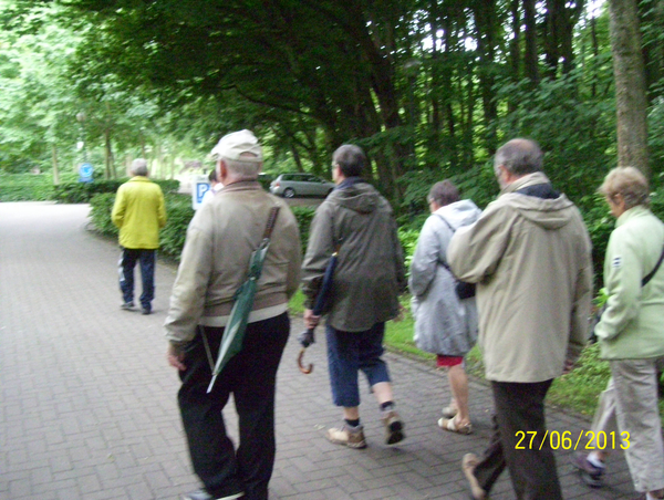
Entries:
[[134, 309], [134, 268], [141, 265], [143, 293], [141, 310], [152, 312], [155, 298], [155, 257], [159, 248], [159, 229], [166, 225], [166, 206], [162, 188], [148, 179], [147, 162], [137, 158], [131, 168], [132, 178], [117, 189], [111, 219], [120, 229], [121, 309]]

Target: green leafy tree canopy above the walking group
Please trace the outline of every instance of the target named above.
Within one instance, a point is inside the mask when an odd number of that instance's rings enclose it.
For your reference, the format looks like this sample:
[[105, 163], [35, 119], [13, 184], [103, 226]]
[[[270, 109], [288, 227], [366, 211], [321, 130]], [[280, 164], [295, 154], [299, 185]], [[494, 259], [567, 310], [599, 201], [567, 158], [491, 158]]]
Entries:
[[[270, 152], [266, 167], [274, 171], [326, 175], [333, 148], [359, 144], [373, 160], [376, 184], [402, 207], [421, 205], [430, 181], [450, 176], [466, 195], [486, 198], [495, 188], [483, 166], [513, 136], [541, 144], [550, 177], [577, 201], [616, 164], [609, 14], [596, 2], [1, 4], [9, 28], [0, 45], [3, 81], [18, 85], [18, 60], [6, 59], [18, 40], [54, 29], [69, 33], [62, 35], [68, 51], [55, 51], [66, 54], [56, 70], [69, 84], [55, 84], [72, 107], [64, 122], [85, 108], [85, 133], [105, 150], [110, 176], [116, 152], [152, 142], [162, 155], [186, 148], [203, 156], [240, 127], [261, 137]], [[656, 131], [663, 14], [655, 0], [637, 6], [650, 128]], [[75, 126], [61, 140], [71, 143]], [[650, 138], [658, 174], [664, 140]]]

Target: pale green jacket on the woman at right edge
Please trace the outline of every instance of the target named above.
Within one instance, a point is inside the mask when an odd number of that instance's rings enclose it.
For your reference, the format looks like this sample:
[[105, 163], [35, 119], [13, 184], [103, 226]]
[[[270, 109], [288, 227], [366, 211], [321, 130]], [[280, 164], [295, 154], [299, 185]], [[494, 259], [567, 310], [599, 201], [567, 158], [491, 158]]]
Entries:
[[609, 300], [595, 327], [606, 360], [664, 356], [664, 263], [645, 285], [641, 280], [664, 249], [664, 223], [637, 206], [615, 222], [604, 259]]

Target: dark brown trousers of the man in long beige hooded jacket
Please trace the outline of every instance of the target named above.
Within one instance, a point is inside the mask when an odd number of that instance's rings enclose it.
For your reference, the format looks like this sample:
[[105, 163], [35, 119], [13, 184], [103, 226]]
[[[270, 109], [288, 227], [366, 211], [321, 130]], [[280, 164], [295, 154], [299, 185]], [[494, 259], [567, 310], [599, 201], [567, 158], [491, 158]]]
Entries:
[[[562, 499], [549, 436], [542, 444], [547, 433], [544, 397], [551, 382], [491, 382], [496, 406], [494, 434], [475, 468], [475, 477], [485, 491], [491, 490], [507, 466], [517, 499]], [[532, 434], [528, 431], [537, 433], [532, 442]], [[525, 449], [517, 449], [517, 446]]]

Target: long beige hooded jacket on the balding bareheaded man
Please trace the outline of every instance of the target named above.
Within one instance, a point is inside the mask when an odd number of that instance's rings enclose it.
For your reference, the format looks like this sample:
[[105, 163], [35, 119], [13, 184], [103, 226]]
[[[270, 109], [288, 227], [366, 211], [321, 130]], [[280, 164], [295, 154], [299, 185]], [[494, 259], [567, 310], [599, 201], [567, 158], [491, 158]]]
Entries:
[[453, 272], [478, 283], [478, 342], [490, 381], [554, 378], [588, 338], [592, 262], [581, 215], [564, 195], [515, 192], [548, 183], [538, 173], [509, 185], [447, 250]]

